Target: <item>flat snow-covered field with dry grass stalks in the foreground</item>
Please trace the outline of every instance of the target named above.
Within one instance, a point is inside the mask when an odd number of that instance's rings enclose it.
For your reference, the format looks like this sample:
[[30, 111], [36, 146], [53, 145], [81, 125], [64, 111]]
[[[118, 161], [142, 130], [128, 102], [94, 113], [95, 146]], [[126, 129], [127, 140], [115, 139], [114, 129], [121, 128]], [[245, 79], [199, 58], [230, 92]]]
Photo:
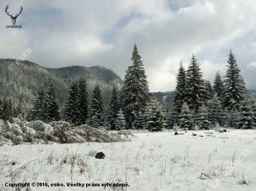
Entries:
[[[111, 191], [103, 184], [118, 182], [127, 191], [256, 191], [256, 130], [228, 130], [138, 130], [132, 142], [0, 147], [0, 191]], [[22, 182], [30, 186], [6, 186]]]

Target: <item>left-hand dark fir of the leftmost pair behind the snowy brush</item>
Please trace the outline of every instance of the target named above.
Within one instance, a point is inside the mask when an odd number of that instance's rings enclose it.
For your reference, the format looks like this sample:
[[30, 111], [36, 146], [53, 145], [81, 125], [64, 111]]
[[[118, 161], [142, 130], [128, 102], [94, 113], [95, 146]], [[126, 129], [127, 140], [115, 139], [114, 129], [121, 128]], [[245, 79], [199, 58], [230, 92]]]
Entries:
[[31, 109], [29, 115], [28, 115], [28, 121], [34, 121], [34, 120], [43, 120], [43, 105], [45, 101], [45, 91], [43, 85], [40, 85], [37, 96], [34, 102], [34, 107]]

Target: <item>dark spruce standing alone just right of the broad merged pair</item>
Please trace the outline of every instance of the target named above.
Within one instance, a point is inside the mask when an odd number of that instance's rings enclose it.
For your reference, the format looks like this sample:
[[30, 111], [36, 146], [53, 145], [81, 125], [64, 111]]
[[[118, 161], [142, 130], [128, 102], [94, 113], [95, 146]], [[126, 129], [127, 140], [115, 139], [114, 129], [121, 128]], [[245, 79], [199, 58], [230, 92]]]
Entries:
[[101, 127], [104, 124], [103, 113], [104, 105], [101, 96], [101, 89], [100, 85], [97, 83], [93, 90], [86, 123], [91, 127]]

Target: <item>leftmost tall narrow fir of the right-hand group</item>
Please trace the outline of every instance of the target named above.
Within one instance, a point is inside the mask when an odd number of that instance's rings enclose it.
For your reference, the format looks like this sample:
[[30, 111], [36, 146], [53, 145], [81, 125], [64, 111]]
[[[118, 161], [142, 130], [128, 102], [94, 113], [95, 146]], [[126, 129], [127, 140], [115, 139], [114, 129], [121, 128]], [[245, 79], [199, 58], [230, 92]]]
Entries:
[[[181, 113], [183, 102], [186, 99], [186, 87], [187, 87], [187, 79], [186, 79], [186, 69], [183, 67], [182, 62], [180, 63], [180, 68], [176, 77], [176, 88], [174, 90], [174, 100], [173, 106], [175, 111]], [[171, 125], [173, 127], [173, 125]]]

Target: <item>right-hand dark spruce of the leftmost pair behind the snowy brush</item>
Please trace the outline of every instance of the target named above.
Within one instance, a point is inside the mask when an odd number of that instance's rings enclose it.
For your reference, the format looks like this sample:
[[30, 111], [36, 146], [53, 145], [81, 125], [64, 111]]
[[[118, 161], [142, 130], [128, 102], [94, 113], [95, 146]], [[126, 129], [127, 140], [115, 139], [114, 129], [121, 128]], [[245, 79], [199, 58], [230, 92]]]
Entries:
[[60, 121], [60, 106], [58, 101], [58, 95], [55, 90], [55, 85], [50, 82], [47, 89], [44, 102], [44, 119], [45, 122]]

